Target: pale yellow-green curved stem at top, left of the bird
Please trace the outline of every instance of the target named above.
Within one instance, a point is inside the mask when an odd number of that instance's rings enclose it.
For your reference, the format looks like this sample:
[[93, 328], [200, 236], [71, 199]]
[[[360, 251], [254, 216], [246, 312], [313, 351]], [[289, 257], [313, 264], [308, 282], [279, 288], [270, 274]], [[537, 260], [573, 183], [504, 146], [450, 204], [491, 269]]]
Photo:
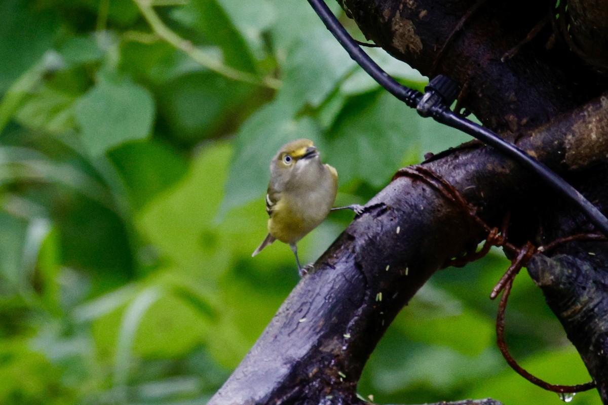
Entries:
[[187, 53], [193, 60], [197, 63], [201, 64], [207, 69], [213, 70], [213, 72], [219, 73], [224, 77], [242, 81], [244, 83], [251, 83], [269, 87], [271, 89], [278, 89], [281, 86], [280, 80], [277, 80], [273, 77], [265, 77], [260, 78], [256, 75], [252, 75], [251, 73], [242, 72], [241, 70], [234, 69], [230, 66], [226, 66], [220, 61], [216, 60], [212, 56], [208, 55], [206, 52], [203, 52], [201, 49], [195, 47], [192, 42], [187, 39], [182, 38], [177, 33], [173, 32], [169, 27], [162, 22], [161, 18], [154, 12], [153, 2], [150, 0], [133, 0], [137, 7], [139, 7], [140, 12], [143, 15], [143, 18], [148, 21], [151, 29], [167, 41], [167, 43], [176, 47], [179, 50]]

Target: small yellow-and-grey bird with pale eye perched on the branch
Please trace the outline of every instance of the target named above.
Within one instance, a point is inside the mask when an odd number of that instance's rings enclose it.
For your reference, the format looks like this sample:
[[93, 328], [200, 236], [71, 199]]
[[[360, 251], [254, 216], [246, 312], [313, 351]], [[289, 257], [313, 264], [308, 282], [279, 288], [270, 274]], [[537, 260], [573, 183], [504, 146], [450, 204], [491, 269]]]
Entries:
[[353, 209], [360, 214], [362, 206], [331, 208], [336, 200], [336, 169], [321, 163], [313, 141], [299, 139], [283, 145], [270, 162], [270, 182], [266, 194], [268, 235], [251, 256], [275, 240], [287, 243], [295, 255], [300, 276], [306, 270], [300, 265], [296, 243], [316, 228], [332, 209]]

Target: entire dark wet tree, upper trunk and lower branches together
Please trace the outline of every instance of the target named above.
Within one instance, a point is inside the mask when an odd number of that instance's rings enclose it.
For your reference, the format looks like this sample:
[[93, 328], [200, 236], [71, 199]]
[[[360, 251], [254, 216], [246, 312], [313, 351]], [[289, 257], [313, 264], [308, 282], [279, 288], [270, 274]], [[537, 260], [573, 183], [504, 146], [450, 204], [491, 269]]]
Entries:
[[[365, 35], [397, 58], [425, 74], [434, 70], [457, 80], [465, 87], [463, 106], [567, 175], [606, 212], [608, 98], [593, 98], [605, 89], [589, 86], [598, 78], [595, 70], [559, 43], [545, 49], [550, 25], [513, 58], [500, 61], [545, 18], [547, 4], [346, 0], [344, 5]], [[451, 36], [474, 5], [463, 29]], [[469, 145], [424, 167], [454, 186], [488, 223], [496, 225], [515, 210], [514, 243], [544, 243], [592, 230], [578, 211], [491, 148]], [[518, 211], [524, 203], [525, 210]], [[355, 395], [361, 370], [398, 311], [446, 260], [483, 237], [471, 217], [437, 189], [398, 177], [317, 260], [209, 404], [362, 403]], [[534, 257], [529, 267], [604, 403], [607, 256], [606, 242], [570, 242]]]

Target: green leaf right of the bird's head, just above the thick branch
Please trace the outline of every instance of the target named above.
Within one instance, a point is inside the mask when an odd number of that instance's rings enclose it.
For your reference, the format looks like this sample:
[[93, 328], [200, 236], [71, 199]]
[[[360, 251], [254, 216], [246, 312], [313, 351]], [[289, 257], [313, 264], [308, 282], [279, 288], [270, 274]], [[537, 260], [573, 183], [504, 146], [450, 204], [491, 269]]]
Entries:
[[347, 101], [328, 132], [327, 162], [336, 167], [340, 184], [364, 180], [388, 183], [408, 149], [419, 148], [418, 114], [387, 92]]

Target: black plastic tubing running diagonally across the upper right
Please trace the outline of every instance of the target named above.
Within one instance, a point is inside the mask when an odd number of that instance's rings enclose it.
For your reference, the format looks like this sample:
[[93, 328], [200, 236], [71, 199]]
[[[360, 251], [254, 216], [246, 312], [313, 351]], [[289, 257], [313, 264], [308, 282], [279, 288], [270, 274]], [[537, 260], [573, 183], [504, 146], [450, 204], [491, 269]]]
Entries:
[[[423, 94], [418, 90], [410, 89], [390, 77], [389, 73], [382, 70], [371, 58], [361, 49], [356, 41], [344, 29], [342, 24], [333, 15], [323, 0], [308, 0], [314, 11], [325, 24], [328, 30], [336, 37], [337, 41], [344, 47], [351, 58], [359, 64], [380, 86], [384, 87], [390, 94], [403, 101], [412, 108], [418, 107]], [[592, 203], [582, 196], [573, 186], [564, 179], [551, 171], [547, 166], [538, 162], [526, 152], [517, 148], [512, 143], [503, 140], [497, 134], [487, 128], [475, 124], [474, 122], [460, 117], [451, 111], [445, 104], [439, 104], [430, 108], [430, 115], [438, 122], [466, 132], [466, 134], [477, 138], [492, 148], [498, 149], [505, 155], [513, 158], [523, 166], [531, 169], [541, 179], [547, 182], [551, 188], [557, 190], [562, 196], [575, 203], [589, 218], [589, 220], [608, 236], [608, 219]]]

